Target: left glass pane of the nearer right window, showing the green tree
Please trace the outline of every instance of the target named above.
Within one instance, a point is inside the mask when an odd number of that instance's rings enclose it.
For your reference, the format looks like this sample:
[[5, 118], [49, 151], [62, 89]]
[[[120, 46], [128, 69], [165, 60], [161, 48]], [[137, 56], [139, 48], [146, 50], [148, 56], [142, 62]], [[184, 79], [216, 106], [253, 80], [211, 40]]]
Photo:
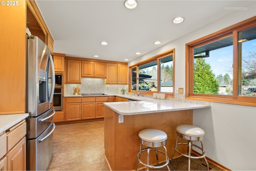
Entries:
[[232, 95], [233, 36], [194, 48], [194, 93]]

